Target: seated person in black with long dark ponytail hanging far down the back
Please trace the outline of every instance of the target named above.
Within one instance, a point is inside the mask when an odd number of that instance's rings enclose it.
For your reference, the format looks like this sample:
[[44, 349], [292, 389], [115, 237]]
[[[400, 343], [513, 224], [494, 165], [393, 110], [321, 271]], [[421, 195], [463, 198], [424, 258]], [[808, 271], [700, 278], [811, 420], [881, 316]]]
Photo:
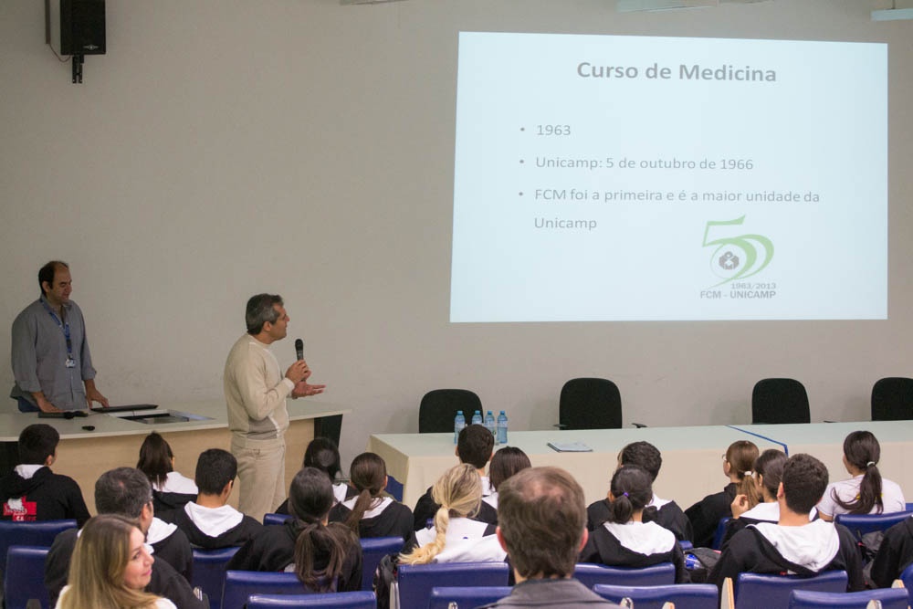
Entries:
[[289, 488], [295, 518], [264, 527], [241, 546], [226, 569], [295, 572], [315, 592], [360, 590], [362, 546], [351, 529], [328, 521], [334, 499], [326, 473], [304, 467]]

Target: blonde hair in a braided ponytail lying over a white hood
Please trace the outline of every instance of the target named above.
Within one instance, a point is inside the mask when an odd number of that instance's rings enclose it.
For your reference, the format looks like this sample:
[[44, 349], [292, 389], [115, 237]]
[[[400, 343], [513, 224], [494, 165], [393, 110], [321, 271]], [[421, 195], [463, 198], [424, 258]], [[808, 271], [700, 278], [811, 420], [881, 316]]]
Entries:
[[401, 554], [400, 562], [404, 564], [427, 564], [435, 560], [444, 550], [450, 519], [471, 518], [478, 513], [482, 503], [482, 479], [475, 466], [461, 463], [438, 478], [431, 496], [441, 506], [435, 514], [436, 537], [421, 548]]

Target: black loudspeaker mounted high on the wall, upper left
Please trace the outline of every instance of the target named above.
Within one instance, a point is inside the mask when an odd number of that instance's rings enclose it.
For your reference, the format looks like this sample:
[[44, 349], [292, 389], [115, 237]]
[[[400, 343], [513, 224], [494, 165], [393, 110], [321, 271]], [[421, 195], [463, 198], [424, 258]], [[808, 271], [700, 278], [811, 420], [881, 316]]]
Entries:
[[105, 0], [46, 0], [50, 44], [59, 55], [105, 54]]

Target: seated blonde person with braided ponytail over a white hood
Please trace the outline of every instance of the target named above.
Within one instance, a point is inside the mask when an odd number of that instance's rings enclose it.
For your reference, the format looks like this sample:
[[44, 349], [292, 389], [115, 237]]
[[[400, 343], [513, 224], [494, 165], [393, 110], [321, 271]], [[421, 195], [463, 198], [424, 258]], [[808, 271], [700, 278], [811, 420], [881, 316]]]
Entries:
[[[482, 429], [491, 436], [488, 429]], [[451, 467], [437, 480], [431, 492], [439, 506], [435, 526], [415, 532], [419, 547], [400, 554], [401, 564], [504, 560], [505, 553], [494, 534], [495, 525], [471, 520], [484, 505], [482, 480], [475, 466], [464, 463]]]

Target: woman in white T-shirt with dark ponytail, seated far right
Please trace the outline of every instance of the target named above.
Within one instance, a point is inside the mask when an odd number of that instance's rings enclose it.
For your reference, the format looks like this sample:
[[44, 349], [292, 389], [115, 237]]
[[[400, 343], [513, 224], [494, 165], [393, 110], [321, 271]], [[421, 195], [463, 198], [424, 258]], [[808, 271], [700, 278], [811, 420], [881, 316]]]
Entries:
[[818, 511], [824, 520], [837, 514], [883, 514], [907, 509], [897, 483], [881, 478], [881, 446], [871, 432], [855, 431], [844, 439], [844, 467], [852, 476], [828, 485]]

